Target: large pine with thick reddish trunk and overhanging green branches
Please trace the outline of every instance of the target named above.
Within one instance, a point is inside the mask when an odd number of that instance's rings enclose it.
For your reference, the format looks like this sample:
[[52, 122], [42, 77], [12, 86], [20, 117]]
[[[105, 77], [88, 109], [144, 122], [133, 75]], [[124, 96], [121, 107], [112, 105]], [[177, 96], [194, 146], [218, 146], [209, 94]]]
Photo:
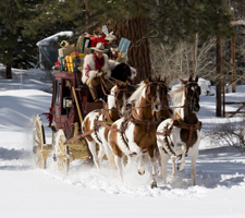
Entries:
[[[115, 35], [132, 40], [130, 61], [139, 66], [139, 80], [150, 75], [150, 43], [172, 46], [195, 43], [210, 36], [233, 34], [231, 14], [221, 5], [224, 0], [87, 0], [91, 19], [109, 21]], [[90, 20], [91, 20], [90, 19]]]

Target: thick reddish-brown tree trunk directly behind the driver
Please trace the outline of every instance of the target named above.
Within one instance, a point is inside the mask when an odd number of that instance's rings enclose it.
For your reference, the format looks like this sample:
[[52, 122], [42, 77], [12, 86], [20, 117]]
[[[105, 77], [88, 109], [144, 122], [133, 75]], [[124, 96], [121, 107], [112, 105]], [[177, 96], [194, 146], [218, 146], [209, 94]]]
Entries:
[[122, 37], [131, 40], [127, 56], [130, 65], [137, 69], [136, 83], [148, 78], [151, 73], [151, 63], [149, 41], [145, 38], [147, 35], [146, 20], [144, 17], [124, 20], [118, 23], [113, 31], [118, 43]]

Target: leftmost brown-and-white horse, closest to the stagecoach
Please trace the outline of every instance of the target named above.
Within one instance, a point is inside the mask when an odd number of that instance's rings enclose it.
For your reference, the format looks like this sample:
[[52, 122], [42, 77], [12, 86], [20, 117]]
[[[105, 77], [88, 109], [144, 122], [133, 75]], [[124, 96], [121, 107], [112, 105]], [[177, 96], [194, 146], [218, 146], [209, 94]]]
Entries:
[[[126, 99], [128, 97], [127, 83], [119, 83], [113, 86], [108, 95], [108, 102], [101, 110], [89, 112], [82, 124], [83, 133], [94, 130], [93, 133], [86, 135], [85, 138], [91, 152], [94, 162], [100, 168], [103, 155], [107, 155], [109, 164], [113, 162], [112, 152], [108, 145], [109, 129], [102, 126], [97, 121], [110, 124], [120, 119], [126, 109]], [[99, 145], [99, 154], [96, 152], [96, 143]]]

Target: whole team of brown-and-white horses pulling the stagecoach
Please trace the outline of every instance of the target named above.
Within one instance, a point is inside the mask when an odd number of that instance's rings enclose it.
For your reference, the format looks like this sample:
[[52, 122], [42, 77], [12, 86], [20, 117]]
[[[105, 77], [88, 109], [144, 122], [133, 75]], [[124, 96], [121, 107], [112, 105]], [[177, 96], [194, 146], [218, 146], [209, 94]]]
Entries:
[[[157, 187], [157, 171], [167, 183], [168, 160], [171, 159], [172, 175], [175, 175], [176, 168], [184, 170], [185, 157], [189, 155], [195, 185], [201, 128], [196, 117], [200, 108], [197, 82], [198, 77], [193, 80], [191, 76], [169, 92], [166, 78], [146, 80], [132, 95], [127, 83], [112, 87], [103, 109], [88, 113], [82, 125], [84, 133], [90, 131], [85, 137], [96, 167], [100, 168], [106, 154], [109, 164], [115, 164], [123, 181], [123, 169], [131, 168], [133, 162], [137, 164], [139, 174], [145, 173], [143, 157], [147, 153], [151, 164], [150, 187]], [[96, 144], [99, 145], [98, 155]], [[177, 166], [176, 161], [180, 161]]]

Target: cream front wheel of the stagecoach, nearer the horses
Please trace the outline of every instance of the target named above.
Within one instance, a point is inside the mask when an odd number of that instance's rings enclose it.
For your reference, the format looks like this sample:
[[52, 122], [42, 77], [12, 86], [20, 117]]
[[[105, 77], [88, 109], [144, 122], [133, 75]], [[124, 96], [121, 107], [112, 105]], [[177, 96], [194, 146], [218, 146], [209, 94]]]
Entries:
[[70, 166], [69, 146], [64, 143], [66, 137], [63, 130], [59, 130], [56, 134], [53, 158], [57, 161], [57, 169], [68, 173]]

